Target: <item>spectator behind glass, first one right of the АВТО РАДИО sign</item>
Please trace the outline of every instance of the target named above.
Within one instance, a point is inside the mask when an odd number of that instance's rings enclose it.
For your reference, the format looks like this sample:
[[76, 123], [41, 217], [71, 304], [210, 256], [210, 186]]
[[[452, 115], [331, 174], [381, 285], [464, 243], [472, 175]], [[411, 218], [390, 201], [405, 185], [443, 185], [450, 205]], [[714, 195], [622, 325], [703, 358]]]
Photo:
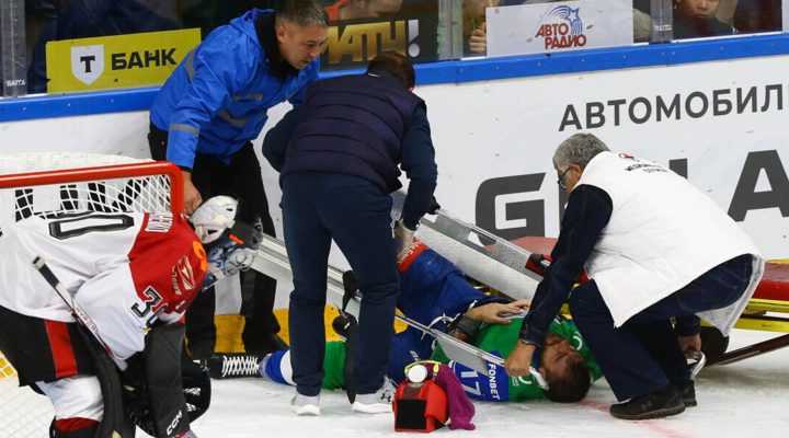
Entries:
[[732, 35], [734, 28], [718, 21], [719, 0], [677, 0], [674, 4], [674, 39]]

